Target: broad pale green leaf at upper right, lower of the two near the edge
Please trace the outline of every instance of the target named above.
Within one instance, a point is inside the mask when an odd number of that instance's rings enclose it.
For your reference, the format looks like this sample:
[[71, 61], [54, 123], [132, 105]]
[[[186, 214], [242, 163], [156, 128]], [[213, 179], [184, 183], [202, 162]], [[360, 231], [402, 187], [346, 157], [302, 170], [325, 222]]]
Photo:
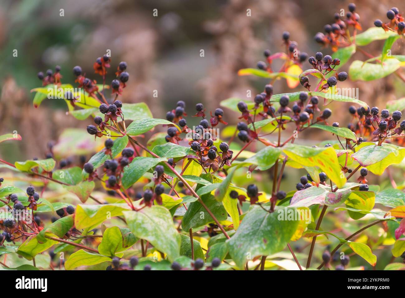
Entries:
[[356, 60], [350, 65], [349, 77], [352, 81], [373, 81], [390, 75], [401, 66], [395, 58], [386, 59], [384, 65]]

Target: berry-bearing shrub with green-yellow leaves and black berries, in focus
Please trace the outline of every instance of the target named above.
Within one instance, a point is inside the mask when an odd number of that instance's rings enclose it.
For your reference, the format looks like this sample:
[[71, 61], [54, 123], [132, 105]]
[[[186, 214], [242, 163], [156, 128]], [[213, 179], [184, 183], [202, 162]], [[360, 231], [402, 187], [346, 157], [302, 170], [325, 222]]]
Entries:
[[[80, 66], [73, 68], [75, 84], [62, 84], [59, 66], [55, 72], [38, 73], [43, 86], [33, 90], [34, 106], [49, 97], [63, 99], [73, 117], [94, 119], [82, 131], [94, 136], [102, 149], [89, 160], [66, 159], [66, 155], [81, 152], [75, 146], [83, 135], [70, 131], [69, 141], [56, 145], [68, 147], [67, 153], [60, 154], [60, 148], [51, 145], [44, 160], [15, 164], [0, 160], [26, 175], [28, 187], [23, 191], [17, 187], [21, 183], [4, 184], [9, 181], [1, 178], [1, 202], [11, 208], [12, 216], [1, 221], [0, 243], [10, 252], [9, 243], [15, 243], [17, 253], [28, 260], [49, 251], [50, 268], [58, 265], [56, 255], [66, 252], [66, 262], [59, 265], [67, 270], [80, 266], [263, 270], [273, 266], [271, 261], [280, 257], [275, 254], [283, 250], [292, 254], [300, 269], [305, 261], [305, 268], [313, 266], [311, 260], [316, 260], [318, 269], [361, 269], [367, 263], [376, 265], [372, 249], [388, 250], [391, 243], [394, 257], [403, 257], [405, 195], [388, 171], [405, 157], [401, 147], [405, 101], [390, 102], [380, 113], [356, 94], [339, 92], [339, 85], [348, 78], [372, 81], [397, 73], [405, 80], [399, 72], [404, 57], [387, 55], [396, 39], [403, 38], [403, 17], [396, 8], [387, 17], [388, 22], [376, 20], [375, 28], [358, 33], [362, 30], [359, 15], [350, 4], [345, 17], [337, 14], [335, 22], [324, 27], [325, 33], [315, 35], [315, 41], [331, 48], [331, 56], [319, 51], [308, 57], [291, 41], [293, 34], [283, 32], [280, 41], [285, 52], [265, 50], [257, 69], [239, 71], [239, 75], [270, 79], [263, 92], [253, 101], [231, 98], [208, 110], [198, 103], [192, 113], [200, 119], [197, 126], [188, 126], [190, 108], [183, 101], [167, 112], [166, 119], [153, 118], [145, 103], [122, 103], [119, 96], [130, 84], [126, 71], [130, 66], [119, 63], [116, 79], [107, 86], [105, 77], [112, 63], [107, 55], [94, 62], [103, 84], [87, 77]], [[361, 48], [384, 39], [380, 56], [370, 58]], [[340, 71], [356, 51], [366, 54], [368, 60], [352, 62], [348, 73]], [[277, 59], [284, 63], [274, 71]], [[303, 71], [306, 61], [311, 68]], [[277, 79], [286, 79], [290, 88], [301, 84], [301, 90], [273, 94]], [[347, 127], [341, 126], [343, 121], [330, 125], [334, 112], [324, 106], [331, 101], [353, 104]], [[239, 115], [237, 125], [226, 122], [232, 113]], [[156, 126], [164, 126], [166, 133], [142, 138]], [[326, 131], [330, 139], [314, 146], [296, 144], [306, 130]], [[21, 137], [8, 134], [0, 141], [9, 139]], [[307, 174], [289, 181], [289, 189], [281, 189], [286, 167]], [[392, 188], [367, 184], [369, 176], [385, 172]], [[262, 187], [252, 175], [265, 181]], [[75, 199], [55, 200], [48, 190]], [[76, 199], [81, 203], [69, 203]], [[34, 212], [34, 221], [22, 219], [27, 211]], [[59, 218], [51, 217], [55, 213]], [[336, 220], [336, 214], [352, 221], [344, 225], [337, 221], [335, 227], [328, 223], [326, 229], [322, 220]], [[360, 219], [367, 219], [367, 225]], [[342, 229], [350, 233], [342, 236]], [[364, 238], [355, 241], [358, 235]], [[325, 236], [334, 247], [325, 247]], [[315, 245], [317, 238], [322, 241]], [[308, 249], [294, 242], [307, 242]], [[298, 258], [294, 251], [300, 252]], [[380, 267], [386, 265], [388, 262]], [[404, 269], [401, 263], [388, 266]]]

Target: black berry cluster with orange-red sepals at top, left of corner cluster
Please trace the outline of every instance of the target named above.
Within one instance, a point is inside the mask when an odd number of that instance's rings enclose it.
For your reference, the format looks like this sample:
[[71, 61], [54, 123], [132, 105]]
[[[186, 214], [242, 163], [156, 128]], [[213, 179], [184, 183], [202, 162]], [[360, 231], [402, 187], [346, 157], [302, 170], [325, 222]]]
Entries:
[[315, 41], [321, 45], [330, 45], [333, 51], [342, 45], [342, 42], [347, 39], [347, 28], [352, 27], [356, 30], [361, 30], [359, 23], [360, 16], [355, 12], [356, 5], [354, 3], [349, 4], [349, 11], [346, 13], [346, 18], [341, 19], [339, 13], [335, 13], [335, 22], [331, 25], [324, 26], [325, 34], [318, 32], [315, 34]]

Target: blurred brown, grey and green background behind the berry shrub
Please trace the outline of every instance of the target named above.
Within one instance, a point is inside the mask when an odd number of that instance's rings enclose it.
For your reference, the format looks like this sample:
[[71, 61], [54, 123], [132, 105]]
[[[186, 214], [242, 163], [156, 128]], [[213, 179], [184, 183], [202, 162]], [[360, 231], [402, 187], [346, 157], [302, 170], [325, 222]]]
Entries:
[[[207, 110], [219, 102], [262, 92], [267, 79], [239, 77], [241, 68], [256, 67], [263, 60], [263, 50], [283, 51], [281, 34], [291, 33], [291, 40], [301, 51], [313, 55], [320, 50], [313, 36], [333, 22], [340, 9], [347, 10], [349, 1], [337, 0], [1, 0], [0, 6], [0, 133], [17, 131], [21, 142], [5, 142], [0, 155], [7, 161], [45, 158], [47, 143], [57, 140], [67, 127], [85, 128], [91, 120], [78, 121], [66, 115], [62, 100], [45, 100], [39, 108], [32, 105], [30, 90], [41, 85], [38, 71], [62, 67], [62, 82], [74, 86], [72, 67], [80, 65], [90, 78], [96, 58], [111, 50], [111, 68], [107, 83], [114, 78], [120, 61], [128, 62], [130, 79], [122, 100], [146, 102], [155, 118], [183, 100], [189, 115], [201, 102]], [[385, 19], [387, 9], [400, 0], [358, 0], [363, 29], [373, 26], [377, 18]], [[157, 9], [158, 16], [153, 16]], [[246, 15], [251, 9], [252, 16]], [[64, 16], [60, 16], [63, 10]], [[365, 49], [377, 56], [384, 41], [371, 43]], [[13, 50], [17, 49], [17, 57]], [[200, 57], [204, 49], [204, 57]], [[332, 54], [330, 48], [322, 50]], [[403, 41], [397, 41], [393, 54], [404, 54]], [[356, 53], [352, 60], [366, 60]], [[350, 62], [343, 66], [347, 71]], [[303, 69], [310, 68], [305, 62]], [[275, 65], [274, 69], [277, 69]], [[341, 87], [358, 87], [360, 100], [370, 106], [385, 107], [388, 100], [405, 95], [403, 82], [391, 75], [367, 82], [343, 82]], [[398, 88], [396, 88], [398, 87]], [[288, 91], [285, 80], [274, 84], [275, 93]], [[158, 97], [153, 97], [158, 90]], [[298, 86], [296, 90], [303, 90]], [[346, 126], [350, 121], [349, 105], [332, 104], [330, 122]], [[225, 109], [225, 120], [237, 122], [237, 114]], [[189, 126], [195, 118], [188, 118]], [[87, 123], [88, 122], [88, 123]], [[344, 122], [344, 123], [342, 123]], [[164, 128], [160, 128], [162, 131]], [[323, 139], [321, 133], [306, 139]], [[311, 142], [311, 141], [309, 141]]]

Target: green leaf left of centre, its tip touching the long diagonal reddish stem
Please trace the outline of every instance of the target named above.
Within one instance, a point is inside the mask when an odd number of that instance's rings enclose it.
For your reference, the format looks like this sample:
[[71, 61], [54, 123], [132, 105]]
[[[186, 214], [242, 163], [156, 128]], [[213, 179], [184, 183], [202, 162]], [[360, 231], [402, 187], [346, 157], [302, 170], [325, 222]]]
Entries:
[[122, 187], [128, 189], [132, 186], [139, 178], [143, 176], [149, 169], [155, 167], [158, 163], [162, 161], [167, 161], [166, 158], [154, 158], [154, 157], [135, 157], [132, 162], [124, 169], [124, 175], [122, 176], [121, 182]]

